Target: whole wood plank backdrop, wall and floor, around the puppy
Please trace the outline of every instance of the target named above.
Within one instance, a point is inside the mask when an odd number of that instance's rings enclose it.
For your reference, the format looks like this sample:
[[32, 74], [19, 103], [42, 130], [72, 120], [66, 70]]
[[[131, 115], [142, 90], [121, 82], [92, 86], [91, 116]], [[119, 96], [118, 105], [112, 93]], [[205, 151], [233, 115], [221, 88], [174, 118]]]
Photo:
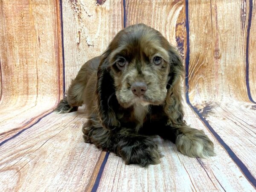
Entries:
[[[53, 113], [81, 65], [148, 24], [184, 58], [185, 119], [215, 145], [126, 166], [83, 142], [84, 110]], [[0, 191], [256, 191], [256, 0], [0, 1]]]

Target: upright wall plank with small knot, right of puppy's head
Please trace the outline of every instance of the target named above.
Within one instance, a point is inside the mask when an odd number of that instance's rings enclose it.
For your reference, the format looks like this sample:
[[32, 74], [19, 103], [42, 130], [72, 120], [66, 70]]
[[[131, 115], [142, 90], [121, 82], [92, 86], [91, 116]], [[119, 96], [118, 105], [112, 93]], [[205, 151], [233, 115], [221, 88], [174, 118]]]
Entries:
[[248, 2], [189, 1], [192, 102], [224, 97], [248, 101], [244, 78]]

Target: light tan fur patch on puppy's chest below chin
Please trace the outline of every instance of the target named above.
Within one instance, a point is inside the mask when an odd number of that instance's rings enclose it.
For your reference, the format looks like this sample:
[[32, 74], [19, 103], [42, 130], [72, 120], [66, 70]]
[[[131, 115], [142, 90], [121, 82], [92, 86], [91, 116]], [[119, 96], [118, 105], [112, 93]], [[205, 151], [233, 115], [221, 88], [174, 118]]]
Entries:
[[142, 127], [148, 112], [149, 112], [148, 105], [147, 106], [134, 105], [133, 116], [137, 121], [136, 131], [139, 131], [139, 129]]

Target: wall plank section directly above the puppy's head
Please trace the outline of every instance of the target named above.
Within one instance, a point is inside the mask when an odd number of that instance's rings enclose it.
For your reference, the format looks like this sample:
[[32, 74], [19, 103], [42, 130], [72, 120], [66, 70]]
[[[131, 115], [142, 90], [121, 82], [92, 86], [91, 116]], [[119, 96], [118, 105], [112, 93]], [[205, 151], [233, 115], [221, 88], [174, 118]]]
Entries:
[[179, 48], [182, 55], [184, 39], [183, 16], [183, 0], [126, 1], [127, 26], [145, 23], [159, 30], [171, 44]]

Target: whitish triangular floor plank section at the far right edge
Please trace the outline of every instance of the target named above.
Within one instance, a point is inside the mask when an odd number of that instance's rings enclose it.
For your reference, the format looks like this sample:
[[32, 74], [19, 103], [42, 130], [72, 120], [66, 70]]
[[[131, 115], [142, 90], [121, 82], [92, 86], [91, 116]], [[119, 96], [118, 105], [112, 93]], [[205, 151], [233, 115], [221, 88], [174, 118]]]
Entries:
[[[199, 107], [198, 107], [199, 108]], [[256, 111], [249, 103], [214, 102], [200, 113], [256, 177]]]

